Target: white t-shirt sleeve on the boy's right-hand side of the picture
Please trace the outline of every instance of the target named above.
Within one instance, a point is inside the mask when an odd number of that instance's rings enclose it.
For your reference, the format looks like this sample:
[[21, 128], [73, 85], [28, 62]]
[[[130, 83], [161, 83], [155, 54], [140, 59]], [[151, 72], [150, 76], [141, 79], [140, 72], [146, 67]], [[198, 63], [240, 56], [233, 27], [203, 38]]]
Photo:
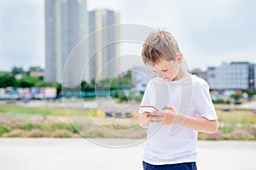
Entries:
[[218, 119], [207, 82], [200, 84], [196, 90], [195, 110], [198, 116], [205, 117], [209, 121]]

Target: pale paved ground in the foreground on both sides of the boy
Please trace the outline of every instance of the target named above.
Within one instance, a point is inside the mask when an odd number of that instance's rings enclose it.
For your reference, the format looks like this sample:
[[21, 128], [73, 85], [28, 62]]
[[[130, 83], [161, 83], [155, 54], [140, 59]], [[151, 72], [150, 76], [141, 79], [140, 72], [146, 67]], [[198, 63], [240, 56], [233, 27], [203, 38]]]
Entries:
[[[101, 139], [102, 144], [134, 143]], [[199, 141], [198, 169], [256, 169], [256, 142]], [[143, 143], [113, 149], [87, 139], [0, 139], [1, 170], [141, 170]]]

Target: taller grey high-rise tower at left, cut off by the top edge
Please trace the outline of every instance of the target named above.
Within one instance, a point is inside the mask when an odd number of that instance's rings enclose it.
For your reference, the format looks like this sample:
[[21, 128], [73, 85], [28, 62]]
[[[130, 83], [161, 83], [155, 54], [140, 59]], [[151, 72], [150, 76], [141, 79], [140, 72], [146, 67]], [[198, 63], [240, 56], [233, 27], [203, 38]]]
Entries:
[[45, 31], [45, 81], [73, 87], [89, 79], [83, 74], [87, 43], [77, 48], [89, 33], [86, 0], [45, 0]]

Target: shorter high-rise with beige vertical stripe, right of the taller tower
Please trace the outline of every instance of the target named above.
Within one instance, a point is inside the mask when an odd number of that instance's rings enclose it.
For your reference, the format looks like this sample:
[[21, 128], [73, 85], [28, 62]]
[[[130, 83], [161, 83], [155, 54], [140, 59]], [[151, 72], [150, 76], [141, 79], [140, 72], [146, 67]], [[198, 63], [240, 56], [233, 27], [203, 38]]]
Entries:
[[90, 79], [114, 77], [119, 72], [119, 13], [90, 11]]

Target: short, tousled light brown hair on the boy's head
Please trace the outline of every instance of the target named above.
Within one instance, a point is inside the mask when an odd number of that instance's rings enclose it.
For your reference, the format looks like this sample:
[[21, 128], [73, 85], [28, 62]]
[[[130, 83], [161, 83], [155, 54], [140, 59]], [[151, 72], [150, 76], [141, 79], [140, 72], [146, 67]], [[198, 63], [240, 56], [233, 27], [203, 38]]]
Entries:
[[159, 30], [148, 35], [143, 44], [143, 62], [145, 65], [155, 65], [161, 59], [175, 60], [180, 53], [177, 41], [168, 31]]

